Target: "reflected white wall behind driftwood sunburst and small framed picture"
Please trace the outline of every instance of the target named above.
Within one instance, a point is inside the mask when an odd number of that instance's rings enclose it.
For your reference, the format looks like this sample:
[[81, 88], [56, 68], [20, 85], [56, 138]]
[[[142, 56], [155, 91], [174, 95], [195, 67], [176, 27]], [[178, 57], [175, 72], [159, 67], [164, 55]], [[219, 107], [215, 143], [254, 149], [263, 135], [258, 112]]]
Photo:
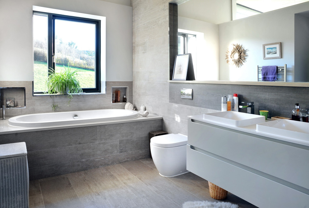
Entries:
[[[257, 81], [257, 65], [287, 64], [287, 81], [294, 81], [294, 14], [309, 10], [309, 2], [266, 12], [219, 25], [220, 80]], [[262, 45], [281, 42], [281, 59], [262, 57]], [[246, 49], [247, 61], [241, 68], [226, 63], [231, 44]], [[296, 69], [297, 70], [297, 69]]]

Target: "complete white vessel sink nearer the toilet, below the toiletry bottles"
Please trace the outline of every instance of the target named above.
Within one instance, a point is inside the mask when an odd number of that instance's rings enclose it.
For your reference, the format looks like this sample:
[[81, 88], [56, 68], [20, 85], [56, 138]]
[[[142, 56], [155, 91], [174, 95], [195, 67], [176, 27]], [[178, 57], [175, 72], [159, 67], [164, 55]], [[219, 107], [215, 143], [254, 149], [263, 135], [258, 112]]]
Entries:
[[230, 126], [248, 126], [265, 122], [265, 116], [235, 111], [222, 111], [204, 114], [204, 120]]

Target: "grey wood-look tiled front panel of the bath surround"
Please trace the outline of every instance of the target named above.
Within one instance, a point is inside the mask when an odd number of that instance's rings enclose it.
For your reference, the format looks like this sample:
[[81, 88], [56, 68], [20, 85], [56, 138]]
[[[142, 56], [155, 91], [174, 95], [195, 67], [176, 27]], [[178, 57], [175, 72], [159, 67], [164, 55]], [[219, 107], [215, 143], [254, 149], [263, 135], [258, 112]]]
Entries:
[[26, 142], [30, 180], [149, 157], [148, 133], [162, 120], [0, 135], [0, 144]]

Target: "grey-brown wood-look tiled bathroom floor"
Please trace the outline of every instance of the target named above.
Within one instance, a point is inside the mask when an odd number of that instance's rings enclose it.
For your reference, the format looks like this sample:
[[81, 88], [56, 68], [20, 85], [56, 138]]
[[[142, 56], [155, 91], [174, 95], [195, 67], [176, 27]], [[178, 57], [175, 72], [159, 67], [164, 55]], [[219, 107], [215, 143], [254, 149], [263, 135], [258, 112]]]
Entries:
[[[186, 201], [217, 201], [208, 182], [193, 173], [162, 177], [151, 158], [30, 181], [30, 207], [182, 207]], [[240, 208], [252, 204], [228, 193]]]

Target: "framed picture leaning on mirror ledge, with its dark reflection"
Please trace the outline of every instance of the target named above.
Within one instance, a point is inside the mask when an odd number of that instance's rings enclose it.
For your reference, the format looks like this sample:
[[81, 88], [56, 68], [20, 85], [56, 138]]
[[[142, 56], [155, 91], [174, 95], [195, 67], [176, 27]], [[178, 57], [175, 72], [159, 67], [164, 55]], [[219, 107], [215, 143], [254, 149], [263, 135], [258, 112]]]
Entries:
[[176, 55], [172, 80], [195, 80], [191, 54]]

